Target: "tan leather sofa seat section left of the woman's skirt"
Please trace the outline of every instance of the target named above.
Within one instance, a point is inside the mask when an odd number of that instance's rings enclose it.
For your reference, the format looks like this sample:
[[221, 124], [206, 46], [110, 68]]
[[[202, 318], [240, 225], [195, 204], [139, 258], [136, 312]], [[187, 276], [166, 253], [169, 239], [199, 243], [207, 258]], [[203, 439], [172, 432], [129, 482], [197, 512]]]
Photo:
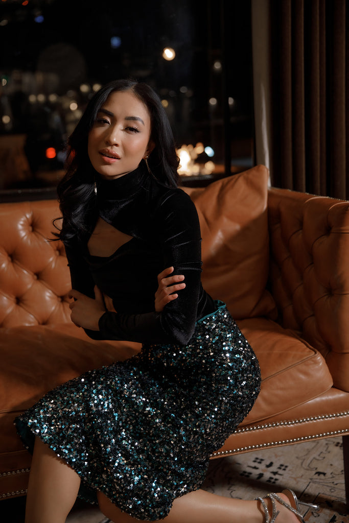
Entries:
[[1, 329], [0, 434], [2, 452], [22, 450], [13, 420], [44, 393], [87, 370], [136, 354], [140, 344], [89, 339], [73, 324]]

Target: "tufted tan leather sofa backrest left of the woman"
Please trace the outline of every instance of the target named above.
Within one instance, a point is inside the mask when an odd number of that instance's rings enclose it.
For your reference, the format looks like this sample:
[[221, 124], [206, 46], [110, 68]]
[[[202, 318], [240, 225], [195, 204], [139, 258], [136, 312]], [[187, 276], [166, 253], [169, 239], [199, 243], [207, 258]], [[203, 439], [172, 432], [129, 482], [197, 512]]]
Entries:
[[70, 276], [53, 238], [55, 201], [0, 205], [0, 326], [70, 322]]

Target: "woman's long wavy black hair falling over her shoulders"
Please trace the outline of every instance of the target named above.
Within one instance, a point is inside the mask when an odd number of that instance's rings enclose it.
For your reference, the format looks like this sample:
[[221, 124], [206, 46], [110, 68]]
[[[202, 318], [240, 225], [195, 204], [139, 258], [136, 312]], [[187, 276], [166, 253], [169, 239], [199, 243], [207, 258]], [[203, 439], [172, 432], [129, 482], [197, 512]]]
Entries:
[[[96, 172], [87, 153], [88, 134], [99, 109], [116, 91], [131, 91], [148, 108], [151, 121], [150, 139], [155, 147], [148, 158], [151, 173], [167, 187], [178, 183], [179, 159], [175, 150], [170, 122], [159, 96], [147, 84], [130, 79], [115, 80], [100, 88], [89, 103], [67, 142], [66, 174], [57, 187], [63, 225], [57, 239], [69, 243], [88, 231], [86, 215], [95, 206]], [[55, 220], [54, 220], [55, 222]]]

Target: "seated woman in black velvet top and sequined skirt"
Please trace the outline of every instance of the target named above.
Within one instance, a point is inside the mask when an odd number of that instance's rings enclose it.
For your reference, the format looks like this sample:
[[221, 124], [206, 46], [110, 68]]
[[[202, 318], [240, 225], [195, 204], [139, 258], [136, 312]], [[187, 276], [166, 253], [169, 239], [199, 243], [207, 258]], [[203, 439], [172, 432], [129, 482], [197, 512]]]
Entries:
[[241, 501], [200, 490], [210, 453], [250, 411], [260, 370], [226, 306], [201, 287], [199, 222], [176, 188], [159, 97], [145, 84], [108, 84], [69, 146], [58, 193], [71, 319], [94, 339], [143, 347], [16, 419], [34, 447], [26, 522], [63, 523], [77, 495], [115, 522], [262, 523], [277, 511], [277, 521], [302, 520], [290, 492]]

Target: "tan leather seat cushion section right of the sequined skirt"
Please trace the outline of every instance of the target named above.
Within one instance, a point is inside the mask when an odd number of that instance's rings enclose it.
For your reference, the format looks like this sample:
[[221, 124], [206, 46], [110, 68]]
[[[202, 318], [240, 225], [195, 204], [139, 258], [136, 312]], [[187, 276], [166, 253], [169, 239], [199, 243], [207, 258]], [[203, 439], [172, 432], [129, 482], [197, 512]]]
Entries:
[[243, 425], [283, 413], [331, 388], [324, 358], [295, 331], [263, 318], [237, 323], [255, 351], [262, 374], [261, 392]]

